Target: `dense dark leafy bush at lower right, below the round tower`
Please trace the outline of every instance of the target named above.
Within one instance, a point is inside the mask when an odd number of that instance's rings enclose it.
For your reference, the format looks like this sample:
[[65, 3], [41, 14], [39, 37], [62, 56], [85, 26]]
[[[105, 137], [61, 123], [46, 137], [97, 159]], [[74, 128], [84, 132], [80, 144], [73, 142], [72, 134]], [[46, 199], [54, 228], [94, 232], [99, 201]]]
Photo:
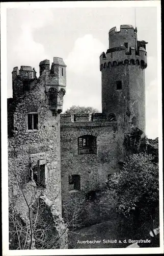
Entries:
[[153, 230], [159, 214], [158, 185], [158, 164], [153, 157], [133, 154], [127, 158], [123, 169], [107, 181], [103, 207], [129, 217], [135, 227], [149, 222]]

